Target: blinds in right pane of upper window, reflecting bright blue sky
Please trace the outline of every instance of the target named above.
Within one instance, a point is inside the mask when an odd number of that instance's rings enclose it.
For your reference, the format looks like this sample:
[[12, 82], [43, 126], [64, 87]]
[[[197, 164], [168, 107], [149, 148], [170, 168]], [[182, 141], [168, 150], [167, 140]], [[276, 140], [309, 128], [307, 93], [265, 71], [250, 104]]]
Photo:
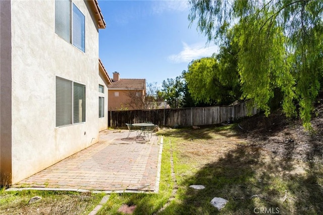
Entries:
[[74, 4], [72, 21], [72, 44], [85, 52], [85, 17]]

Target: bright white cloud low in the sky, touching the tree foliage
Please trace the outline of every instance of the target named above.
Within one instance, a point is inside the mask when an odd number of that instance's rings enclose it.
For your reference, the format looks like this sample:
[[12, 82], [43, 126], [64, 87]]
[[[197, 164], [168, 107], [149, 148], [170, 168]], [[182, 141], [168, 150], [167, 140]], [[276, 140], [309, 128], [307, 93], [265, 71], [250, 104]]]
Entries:
[[203, 43], [188, 45], [183, 42], [183, 50], [176, 55], [171, 55], [168, 59], [174, 63], [189, 63], [202, 57], [210, 57], [214, 52], [218, 52], [217, 45], [205, 46]]

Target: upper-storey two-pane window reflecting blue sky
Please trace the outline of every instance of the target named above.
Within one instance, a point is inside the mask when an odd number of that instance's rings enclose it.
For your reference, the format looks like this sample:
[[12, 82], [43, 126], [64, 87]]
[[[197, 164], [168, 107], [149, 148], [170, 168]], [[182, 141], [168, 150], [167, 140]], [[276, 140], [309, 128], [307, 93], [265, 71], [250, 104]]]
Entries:
[[55, 1], [55, 33], [85, 52], [85, 16], [70, 0]]

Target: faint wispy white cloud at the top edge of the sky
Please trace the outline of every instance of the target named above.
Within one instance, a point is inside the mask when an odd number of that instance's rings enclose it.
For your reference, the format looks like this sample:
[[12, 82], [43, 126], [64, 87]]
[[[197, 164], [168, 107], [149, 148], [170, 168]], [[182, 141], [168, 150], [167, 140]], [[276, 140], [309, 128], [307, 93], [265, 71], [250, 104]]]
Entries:
[[188, 2], [186, 0], [176, 1], [153, 1], [152, 12], [154, 14], [161, 14], [169, 11], [185, 11], [188, 9]]

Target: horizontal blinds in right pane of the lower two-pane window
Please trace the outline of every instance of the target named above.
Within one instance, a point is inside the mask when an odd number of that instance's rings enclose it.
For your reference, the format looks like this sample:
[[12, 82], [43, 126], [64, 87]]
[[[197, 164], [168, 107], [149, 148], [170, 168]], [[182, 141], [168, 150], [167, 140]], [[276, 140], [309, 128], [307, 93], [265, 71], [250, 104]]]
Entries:
[[73, 85], [73, 123], [85, 122], [85, 85]]

